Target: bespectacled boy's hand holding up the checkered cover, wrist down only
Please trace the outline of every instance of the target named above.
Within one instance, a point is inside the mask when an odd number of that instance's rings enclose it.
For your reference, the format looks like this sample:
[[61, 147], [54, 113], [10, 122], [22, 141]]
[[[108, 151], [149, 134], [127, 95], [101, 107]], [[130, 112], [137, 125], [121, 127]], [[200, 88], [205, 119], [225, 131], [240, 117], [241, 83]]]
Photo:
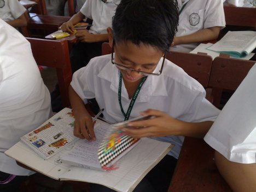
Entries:
[[148, 109], [141, 112], [141, 115], [152, 115], [155, 116], [155, 118], [131, 122], [128, 126], [138, 128], [121, 128], [121, 130], [124, 131], [126, 135], [135, 138], [179, 135], [183, 121], [174, 119], [160, 110]]

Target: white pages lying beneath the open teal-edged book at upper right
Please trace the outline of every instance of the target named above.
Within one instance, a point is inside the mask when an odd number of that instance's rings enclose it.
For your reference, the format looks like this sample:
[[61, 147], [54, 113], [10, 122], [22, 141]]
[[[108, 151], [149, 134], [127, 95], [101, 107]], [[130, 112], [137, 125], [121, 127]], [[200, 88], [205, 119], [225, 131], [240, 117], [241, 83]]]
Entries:
[[[207, 49], [207, 48], [210, 48], [210, 46], [212, 46], [212, 45], [213, 45], [212, 43], [207, 43], [207, 44], [201, 43], [194, 50], [190, 51], [190, 53], [193, 53], [193, 54], [197, 54], [198, 52], [207, 53], [207, 55], [210, 55], [212, 57], [212, 59], [214, 60], [214, 58], [218, 57], [220, 53]], [[245, 57], [239, 57], [239, 59], [249, 60], [253, 57], [253, 55], [254, 55], [254, 53], [250, 53], [250, 54], [246, 55]], [[230, 55], [230, 58], [237, 59], [237, 57], [234, 57], [231, 55]]]

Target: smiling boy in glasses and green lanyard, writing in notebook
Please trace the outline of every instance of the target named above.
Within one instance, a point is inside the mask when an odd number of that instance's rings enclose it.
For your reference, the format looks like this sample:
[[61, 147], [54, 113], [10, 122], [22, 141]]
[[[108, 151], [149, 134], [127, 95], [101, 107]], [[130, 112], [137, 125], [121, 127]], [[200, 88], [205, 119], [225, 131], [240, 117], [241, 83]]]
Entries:
[[[175, 144], [136, 188], [166, 191], [184, 136], [205, 136], [219, 110], [206, 100], [199, 82], [165, 59], [178, 25], [175, 1], [122, 0], [112, 25], [108, 35], [115, 53], [91, 59], [73, 75], [69, 98], [75, 117], [74, 135], [96, 139], [84, 107], [90, 98], [96, 98], [104, 108], [104, 118], [112, 123], [139, 114], [154, 115], [154, 119], [131, 123], [147, 127], [123, 131], [133, 137], [154, 137]], [[97, 187], [92, 185], [92, 191], [101, 191]]]

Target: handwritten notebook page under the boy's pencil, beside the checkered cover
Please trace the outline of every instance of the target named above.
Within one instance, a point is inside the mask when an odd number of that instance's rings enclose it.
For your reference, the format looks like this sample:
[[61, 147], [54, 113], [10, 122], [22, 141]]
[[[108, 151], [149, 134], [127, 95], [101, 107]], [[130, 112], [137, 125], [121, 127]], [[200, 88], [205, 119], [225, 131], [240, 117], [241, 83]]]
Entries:
[[74, 148], [61, 158], [61, 161], [66, 164], [102, 170], [100, 162], [98, 161], [97, 152], [103, 137], [109, 130], [109, 126], [110, 125], [104, 121], [96, 120], [96, 124], [94, 125], [96, 141], [80, 139], [75, 143]]

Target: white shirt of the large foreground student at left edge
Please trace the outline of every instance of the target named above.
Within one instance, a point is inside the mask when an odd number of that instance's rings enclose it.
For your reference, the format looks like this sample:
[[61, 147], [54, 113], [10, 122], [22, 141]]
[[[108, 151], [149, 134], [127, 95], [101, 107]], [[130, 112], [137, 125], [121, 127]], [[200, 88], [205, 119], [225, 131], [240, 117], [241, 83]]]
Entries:
[[33, 172], [4, 152], [49, 119], [50, 94], [30, 43], [1, 19], [0, 31], [0, 171], [26, 176]]

